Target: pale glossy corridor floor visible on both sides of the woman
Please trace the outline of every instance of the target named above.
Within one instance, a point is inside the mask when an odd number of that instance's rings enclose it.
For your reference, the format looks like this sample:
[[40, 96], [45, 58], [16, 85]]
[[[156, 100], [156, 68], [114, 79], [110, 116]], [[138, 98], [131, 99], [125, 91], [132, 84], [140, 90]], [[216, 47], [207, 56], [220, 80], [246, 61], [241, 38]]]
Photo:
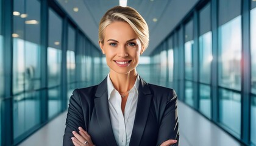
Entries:
[[[196, 111], [183, 104], [179, 106], [180, 146], [238, 146], [240, 145], [229, 134], [205, 119]], [[20, 146], [57, 146], [62, 145], [65, 129], [66, 112], [55, 118], [48, 125], [22, 142]]]

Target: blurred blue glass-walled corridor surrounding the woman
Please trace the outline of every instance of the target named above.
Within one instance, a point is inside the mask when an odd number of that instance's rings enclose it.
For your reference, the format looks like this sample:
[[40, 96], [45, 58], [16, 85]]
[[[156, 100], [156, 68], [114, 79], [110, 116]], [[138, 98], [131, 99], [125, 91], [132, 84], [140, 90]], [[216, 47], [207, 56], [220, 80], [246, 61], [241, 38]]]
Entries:
[[174, 88], [180, 145], [256, 145], [256, 0], [0, 0], [0, 145], [62, 145], [75, 88], [108, 74], [98, 24], [138, 10], [138, 74]]

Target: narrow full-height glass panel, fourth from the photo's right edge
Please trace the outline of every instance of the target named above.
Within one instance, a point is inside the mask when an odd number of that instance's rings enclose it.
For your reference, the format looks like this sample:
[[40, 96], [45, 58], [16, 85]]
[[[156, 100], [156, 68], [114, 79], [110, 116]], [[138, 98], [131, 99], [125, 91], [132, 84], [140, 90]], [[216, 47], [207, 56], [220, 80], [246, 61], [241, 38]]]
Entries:
[[188, 105], [194, 106], [193, 100], [193, 20], [190, 20], [185, 25], [185, 44], [184, 44], [184, 56], [185, 56], [185, 102]]

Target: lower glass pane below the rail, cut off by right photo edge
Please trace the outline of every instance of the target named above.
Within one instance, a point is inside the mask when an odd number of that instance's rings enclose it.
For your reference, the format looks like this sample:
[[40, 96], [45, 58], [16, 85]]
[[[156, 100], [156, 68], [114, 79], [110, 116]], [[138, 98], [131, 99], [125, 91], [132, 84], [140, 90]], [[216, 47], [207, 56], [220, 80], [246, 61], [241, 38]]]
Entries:
[[251, 141], [256, 145], [256, 96], [252, 96], [251, 98]]

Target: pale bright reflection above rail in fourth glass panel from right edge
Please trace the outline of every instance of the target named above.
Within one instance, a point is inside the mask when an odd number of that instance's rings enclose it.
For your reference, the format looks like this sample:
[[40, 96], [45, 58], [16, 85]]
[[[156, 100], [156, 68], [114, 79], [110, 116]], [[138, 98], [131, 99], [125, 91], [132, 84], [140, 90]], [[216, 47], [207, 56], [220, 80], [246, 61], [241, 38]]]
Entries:
[[192, 63], [192, 50], [194, 41], [185, 43], [185, 78], [193, 79], [193, 63]]

